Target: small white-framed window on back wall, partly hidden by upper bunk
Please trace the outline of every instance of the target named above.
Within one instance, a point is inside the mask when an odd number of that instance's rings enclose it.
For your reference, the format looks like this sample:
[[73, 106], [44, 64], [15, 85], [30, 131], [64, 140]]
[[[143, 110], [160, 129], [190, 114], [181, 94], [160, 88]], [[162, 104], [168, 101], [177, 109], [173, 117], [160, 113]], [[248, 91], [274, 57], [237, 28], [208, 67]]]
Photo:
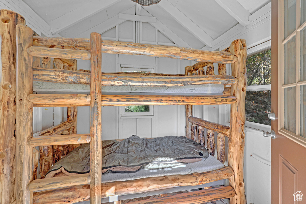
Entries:
[[[121, 72], [153, 73], [153, 69], [121, 67]], [[121, 106], [121, 116], [152, 116], [153, 106]]]

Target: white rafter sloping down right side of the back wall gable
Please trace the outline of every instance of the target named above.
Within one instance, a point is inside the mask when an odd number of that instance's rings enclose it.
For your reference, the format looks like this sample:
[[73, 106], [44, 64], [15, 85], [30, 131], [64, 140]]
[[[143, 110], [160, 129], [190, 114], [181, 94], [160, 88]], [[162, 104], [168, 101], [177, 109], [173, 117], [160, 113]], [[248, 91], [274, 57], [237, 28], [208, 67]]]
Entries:
[[[146, 9], [142, 9], [145, 12], [145, 15], [153, 17], [149, 12], [147, 12]], [[173, 31], [171, 31], [167, 26], [162, 24], [158, 19], [156, 19], [155, 23], [150, 23], [153, 27], [155, 27], [159, 32], [161, 32], [163, 35], [165, 35], [167, 38], [169, 38], [172, 42], [174, 42], [177, 46], [180, 47], [190, 47], [188, 43], [186, 43], [183, 39], [181, 39], [179, 36], [177, 36]]]

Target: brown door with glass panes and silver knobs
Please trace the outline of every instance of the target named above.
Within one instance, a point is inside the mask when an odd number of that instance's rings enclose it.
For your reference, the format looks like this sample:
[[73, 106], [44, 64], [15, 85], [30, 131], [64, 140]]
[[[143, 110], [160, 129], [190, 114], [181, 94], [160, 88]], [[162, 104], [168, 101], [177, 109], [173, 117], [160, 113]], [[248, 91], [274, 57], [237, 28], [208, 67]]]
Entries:
[[[305, 0], [271, 2], [271, 203], [306, 203]], [[299, 201], [299, 202], [297, 202]]]

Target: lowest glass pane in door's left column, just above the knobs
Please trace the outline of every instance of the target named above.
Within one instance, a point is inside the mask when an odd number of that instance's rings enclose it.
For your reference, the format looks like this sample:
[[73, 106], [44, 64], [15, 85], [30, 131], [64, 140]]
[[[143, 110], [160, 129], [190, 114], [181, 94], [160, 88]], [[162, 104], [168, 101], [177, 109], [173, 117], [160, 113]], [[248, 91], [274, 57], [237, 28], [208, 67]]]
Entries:
[[296, 88], [289, 87], [285, 88], [285, 109], [284, 109], [284, 128], [290, 132], [295, 133], [295, 124], [296, 124]]

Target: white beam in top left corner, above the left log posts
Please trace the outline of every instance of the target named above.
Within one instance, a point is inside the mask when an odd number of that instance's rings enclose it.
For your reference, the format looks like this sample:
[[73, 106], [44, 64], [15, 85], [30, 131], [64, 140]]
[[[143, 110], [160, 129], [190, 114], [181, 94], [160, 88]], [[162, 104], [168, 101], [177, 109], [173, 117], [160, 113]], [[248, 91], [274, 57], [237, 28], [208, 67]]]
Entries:
[[35, 11], [33, 11], [22, 0], [0, 0], [4, 5], [2, 8], [10, 9], [16, 13], [19, 13], [26, 20], [26, 24], [37, 34], [46, 35], [48, 37], [61, 37], [60, 35], [52, 35], [50, 33], [50, 26], [44, 21]]

